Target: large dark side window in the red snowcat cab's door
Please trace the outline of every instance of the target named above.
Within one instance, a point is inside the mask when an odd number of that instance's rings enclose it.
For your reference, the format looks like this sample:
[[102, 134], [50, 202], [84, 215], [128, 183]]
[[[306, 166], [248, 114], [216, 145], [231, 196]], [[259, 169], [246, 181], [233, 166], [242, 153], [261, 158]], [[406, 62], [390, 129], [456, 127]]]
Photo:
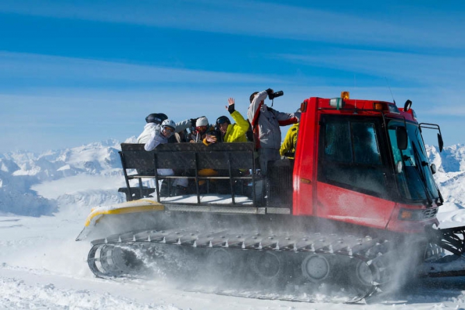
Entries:
[[385, 195], [385, 168], [376, 120], [323, 115], [318, 180], [369, 195]]

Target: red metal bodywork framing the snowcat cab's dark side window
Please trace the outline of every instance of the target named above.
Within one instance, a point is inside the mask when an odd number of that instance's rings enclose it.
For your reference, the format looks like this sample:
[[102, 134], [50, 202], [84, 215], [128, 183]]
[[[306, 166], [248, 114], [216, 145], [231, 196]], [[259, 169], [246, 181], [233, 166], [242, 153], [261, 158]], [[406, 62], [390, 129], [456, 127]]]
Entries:
[[[318, 169], [319, 122], [321, 115], [357, 115], [382, 118], [381, 111], [373, 111], [374, 104], [394, 104], [373, 100], [344, 100], [344, 108], [330, 106], [330, 99], [312, 97], [305, 99], [302, 106], [301, 124], [298, 133], [293, 175], [293, 214], [312, 215], [330, 220], [375, 227], [399, 232], [423, 232], [425, 226], [437, 223], [436, 218], [422, 221], [398, 220], [400, 207], [425, 209], [425, 206], [406, 206], [396, 202], [339, 188], [316, 180]], [[367, 111], [368, 110], [368, 111]], [[384, 115], [416, 122], [412, 110], [404, 112], [397, 108]], [[324, 168], [323, 168], [324, 169]]]

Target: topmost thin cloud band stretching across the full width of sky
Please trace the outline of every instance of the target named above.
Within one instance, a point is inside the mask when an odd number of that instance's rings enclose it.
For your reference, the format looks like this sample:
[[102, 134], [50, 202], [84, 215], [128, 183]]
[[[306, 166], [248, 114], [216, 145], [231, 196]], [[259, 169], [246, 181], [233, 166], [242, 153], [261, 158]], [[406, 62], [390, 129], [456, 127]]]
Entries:
[[[405, 8], [402, 9], [405, 11]], [[384, 47], [465, 46], [459, 13], [399, 9], [382, 14], [335, 13], [259, 1], [52, 1], [3, 0], [0, 12], [99, 22], [143, 24], [270, 38], [378, 44]], [[360, 10], [364, 10], [361, 8]], [[434, 15], [433, 15], [434, 14]], [[405, 17], [405, 18], [400, 18]]]

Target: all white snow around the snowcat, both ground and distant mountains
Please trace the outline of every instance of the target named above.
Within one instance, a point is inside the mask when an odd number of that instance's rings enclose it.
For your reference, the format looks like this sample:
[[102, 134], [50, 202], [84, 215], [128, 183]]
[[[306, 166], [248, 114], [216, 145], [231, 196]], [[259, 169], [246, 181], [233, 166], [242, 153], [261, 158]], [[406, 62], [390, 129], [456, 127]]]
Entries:
[[[97, 279], [86, 262], [90, 243], [75, 238], [92, 207], [124, 201], [124, 196], [115, 193], [124, 186], [112, 157], [115, 144], [110, 140], [47, 152], [42, 159], [30, 153], [0, 155], [0, 309], [465, 309], [464, 277], [424, 279], [357, 304], [183, 291], [163, 278]], [[465, 222], [464, 150], [461, 145], [446, 148], [445, 155], [429, 150], [430, 160], [440, 168], [435, 177], [446, 199], [438, 214], [441, 227]], [[85, 151], [83, 158], [78, 156], [81, 151]], [[85, 163], [92, 164], [86, 168]], [[64, 169], [66, 165], [69, 167]], [[18, 170], [22, 173], [15, 174]], [[57, 170], [76, 174], [58, 175]], [[18, 193], [28, 193], [27, 198]], [[15, 208], [2, 204], [5, 197], [17, 204]], [[53, 205], [56, 209], [51, 209]]]

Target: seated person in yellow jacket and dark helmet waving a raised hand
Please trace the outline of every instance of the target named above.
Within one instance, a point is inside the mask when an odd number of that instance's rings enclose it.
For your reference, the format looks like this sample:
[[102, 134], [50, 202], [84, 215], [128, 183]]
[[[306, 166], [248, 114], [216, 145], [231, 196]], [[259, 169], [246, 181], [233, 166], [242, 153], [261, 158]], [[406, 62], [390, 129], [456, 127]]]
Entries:
[[[221, 133], [222, 142], [247, 142], [246, 132], [248, 130], [248, 121], [238, 111], [235, 111], [234, 98], [228, 99], [229, 106], [226, 106], [226, 110], [230, 113], [234, 124], [231, 124], [229, 117], [220, 116], [217, 119], [217, 130]], [[217, 137], [208, 135], [207, 138], [203, 139], [205, 145], [210, 145], [214, 142], [219, 142]]]

